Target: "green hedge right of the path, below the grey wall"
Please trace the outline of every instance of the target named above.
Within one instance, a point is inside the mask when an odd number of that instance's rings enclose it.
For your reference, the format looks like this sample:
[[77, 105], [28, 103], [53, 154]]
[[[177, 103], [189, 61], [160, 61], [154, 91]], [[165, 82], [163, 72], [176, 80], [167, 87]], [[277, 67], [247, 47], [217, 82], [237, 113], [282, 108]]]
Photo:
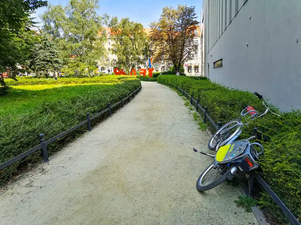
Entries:
[[[253, 93], [239, 89], [229, 89], [210, 80], [196, 80], [173, 75], [159, 76], [158, 82], [169, 82], [184, 88], [194, 98], [200, 99], [202, 106], [214, 121], [225, 123], [240, 117], [241, 110], [252, 105], [257, 111], [264, 107]], [[275, 107], [274, 107], [275, 108]], [[252, 135], [252, 128], [258, 127], [267, 137], [264, 155], [260, 158], [262, 177], [280, 197], [293, 214], [301, 220], [301, 112], [282, 112], [281, 117], [268, 113], [254, 119], [244, 127], [242, 138]], [[261, 189], [261, 207], [269, 211], [276, 222], [286, 223], [286, 217], [271, 197]]]

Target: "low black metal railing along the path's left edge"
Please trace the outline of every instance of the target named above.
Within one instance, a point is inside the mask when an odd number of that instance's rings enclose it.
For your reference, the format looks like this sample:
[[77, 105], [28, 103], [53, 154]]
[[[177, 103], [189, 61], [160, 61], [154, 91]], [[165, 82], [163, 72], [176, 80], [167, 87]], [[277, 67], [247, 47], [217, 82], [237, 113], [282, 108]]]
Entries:
[[128, 96], [126, 96], [125, 98], [123, 98], [120, 101], [116, 102], [115, 104], [111, 105], [111, 103], [109, 102], [108, 103], [108, 107], [106, 109], [102, 110], [101, 112], [98, 112], [97, 114], [95, 114], [93, 116], [90, 116], [90, 113], [87, 112], [87, 119], [86, 120], [80, 122], [79, 124], [73, 126], [72, 128], [70, 128], [70, 129], [68, 129], [68, 130], [66, 130], [66, 131], [64, 131], [64, 132], [62, 132], [62, 133], [60, 133], [60, 134], [58, 134], [58, 135], [56, 135], [56, 136], [48, 139], [48, 140], [45, 140], [44, 139], [44, 134], [41, 133], [39, 135], [39, 137], [40, 137], [40, 144], [39, 145], [37, 145], [37, 146], [31, 148], [30, 150], [25, 151], [22, 154], [19, 154], [16, 157], [14, 157], [14, 158], [12, 158], [12, 159], [10, 159], [10, 160], [8, 160], [8, 161], [0, 164], [0, 170], [6, 168], [8, 166], [10, 166], [11, 164], [19, 161], [22, 158], [25, 158], [26, 156], [28, 156], [31, 153], [36, 152], [36, 151], [38, 151], [40, 149], [42, 149], [42, 155], [43, 155], [43, 158], [44, 158], [44, 162], [49, 161], [48, 152], [47, 152], [47, 144], [50, 144], [50, 143], [56, 141], [57, 139], [65, 136], [65, 135], [67, 135], [68, 133], [72, 132], [73, 130], [75, 130], [75, 129], [77, 129], [80, 126], [83, 126], [85, 124], [88, 124], [88, 129], [89, 129], [89, 131], [91, 131], [91, 120], [92, 119], [97, 118], [98, 116], [102, 115], [103, 113], [105, 113], [107, 111], [109, 111], [109, 116], [111, 116], [112, 115], [112, 108], [116, 107], [119, 104], [121, 104], [121, 107], [123, 107], [124, 102], [130, 101], [130, 97], [131, 96], [134, 97], [135, 93], [137, 91], [140, 91], [140, 90], [141, 90], [141, 84], [140, 84], [140, 86], [137, 89], [133, 90]]

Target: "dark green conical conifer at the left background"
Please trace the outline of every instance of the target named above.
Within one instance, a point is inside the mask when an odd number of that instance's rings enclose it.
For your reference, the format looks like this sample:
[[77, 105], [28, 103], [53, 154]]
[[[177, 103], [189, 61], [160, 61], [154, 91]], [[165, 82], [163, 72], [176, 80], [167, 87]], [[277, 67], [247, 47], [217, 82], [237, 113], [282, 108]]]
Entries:
[[31, 71], [49, 76], [49, 72], [56, 72], [61, 67], [61, 59], [56, 44], [49, 34], [41, 32], [33, 47], [29, 68]]

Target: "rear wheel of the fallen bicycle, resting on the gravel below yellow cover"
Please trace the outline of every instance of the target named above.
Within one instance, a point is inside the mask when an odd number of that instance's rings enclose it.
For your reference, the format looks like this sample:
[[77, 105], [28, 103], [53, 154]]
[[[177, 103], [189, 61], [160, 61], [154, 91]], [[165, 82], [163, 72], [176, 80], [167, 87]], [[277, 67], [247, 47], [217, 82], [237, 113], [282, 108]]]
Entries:
[[224, 182], [231, 167], [227, 165], [219, 165], [214, 168], [213, 163], [210, 164], [200, 175], [197, 181], [197, 189], [199, 191], [209, 190]]

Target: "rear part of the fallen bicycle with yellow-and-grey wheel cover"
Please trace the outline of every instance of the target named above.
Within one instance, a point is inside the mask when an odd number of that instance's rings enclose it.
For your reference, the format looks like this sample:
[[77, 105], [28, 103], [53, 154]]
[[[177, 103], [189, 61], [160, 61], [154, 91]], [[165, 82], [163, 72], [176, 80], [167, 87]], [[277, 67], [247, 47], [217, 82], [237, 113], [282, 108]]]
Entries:
[[[231, 180], [235, 174], [248, 173], [257, 169], [259, 155], [263, 154], [264, 148], [260, 143], [250, 143], [250, 139], [259, 138], [261, 134], [257, 128], [254, 128], [255, 135], [244, 139], [227, 143], [219, 147], [215, 155], [199, 151], [194, 151], [214, 157], [212, 162], [200, 175], [197, 181], [199, 191], [209, 190], [224, 182], [226, 179]], [[258, 153], [254, 145], [258, 145], [261, 151]]]

